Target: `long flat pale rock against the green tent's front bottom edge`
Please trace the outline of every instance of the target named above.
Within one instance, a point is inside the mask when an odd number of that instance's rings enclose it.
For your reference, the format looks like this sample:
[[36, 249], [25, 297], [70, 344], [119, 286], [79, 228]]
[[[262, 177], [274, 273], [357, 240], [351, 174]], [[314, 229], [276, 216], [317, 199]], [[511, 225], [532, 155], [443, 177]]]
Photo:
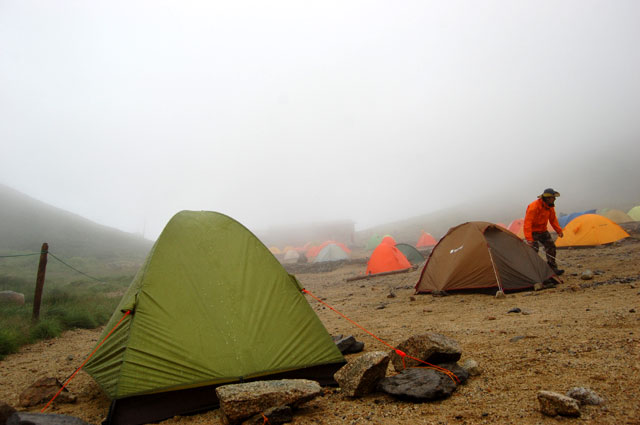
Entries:
[[255, 381], [216, 388], [220, 410], [229, 424], [240, 423], [273, 407], [297, 407], [321, 394], [320, 384], [308, 379]]

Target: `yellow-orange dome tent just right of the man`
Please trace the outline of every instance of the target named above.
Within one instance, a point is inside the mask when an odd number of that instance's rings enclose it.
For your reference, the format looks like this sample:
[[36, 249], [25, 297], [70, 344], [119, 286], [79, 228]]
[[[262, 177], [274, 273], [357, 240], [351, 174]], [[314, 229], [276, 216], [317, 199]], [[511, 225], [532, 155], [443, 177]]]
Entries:
[[583, 214], [563, 229], [564, 237], [556, 240], [558, 248], [604, 245], [629, 237], [622, 227], [598, 214]]

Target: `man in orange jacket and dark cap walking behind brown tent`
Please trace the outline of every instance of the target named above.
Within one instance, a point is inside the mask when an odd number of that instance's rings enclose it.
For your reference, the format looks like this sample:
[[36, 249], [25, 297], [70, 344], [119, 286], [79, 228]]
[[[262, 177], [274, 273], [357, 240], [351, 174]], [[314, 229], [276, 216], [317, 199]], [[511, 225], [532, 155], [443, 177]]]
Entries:
[[559, 237], [563, 236], [562, 227], [556, 218], [554, 209], [556, 198], [560, 194], [549, 188], [538, 195], [538, 199], [533, 201], [527, 207], [527, 213], [524, 216], [524, 237], [527, 243], [536, 250], [540, 248], [540, 244], [544, 246], [547, 254], [547, 263], [555, 274], [560, 276], [564, 270], [559, 269], [556, 264], [556, 244], [553, 243], [551, 234], [547, 230], [547, 223], [558, 233]]

